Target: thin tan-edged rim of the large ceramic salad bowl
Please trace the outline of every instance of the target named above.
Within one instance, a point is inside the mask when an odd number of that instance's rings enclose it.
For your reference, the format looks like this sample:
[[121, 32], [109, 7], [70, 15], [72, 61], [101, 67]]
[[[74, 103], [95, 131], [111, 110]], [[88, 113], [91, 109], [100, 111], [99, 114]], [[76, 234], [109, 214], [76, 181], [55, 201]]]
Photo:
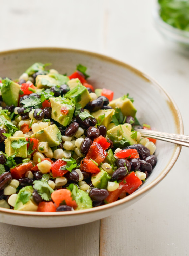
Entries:
[[[63, 47], [31, 47], [31, 48], [19, 48], [19, 49], [13, 49], [13, 50], [6, 50], [6, 51], [1, 51], [1, 55], [5, 54], [14, 54], [14, 53], [19, 53], [19, 52], [28, 52], [28, 51], [39, 51], [39, 50], [44, 50], [44, 51], [61, 51], [61, 52], [73, 52], [73, 53], [80, 53], [84, 54], [87, 56], [91, 57], [96, 57], [97, 59], [100, 59], [101, 61], [107, 61], [112, 64], [119, 65], [123, 68], [129, 69], [131, 72], [135, 73], [136, 75], [140, 76], [140, 78], [143, 78], [147, 82], [150, 82], [152, 86], [158, 87], [167, 97], [167, 103], [169, 104], [170, 110], [172, 112], [172, 115], [174, 117], [174, 121], [177, 124], [177, 129], [178, 133], [183, 134], [183, 121], [182, 117], [180, 114], [180, 111], [175, 104], [174, 100], [171, 98], [171, 96], [166, 92], [166, 90], [156, 82], [155, 79], [151, 78], [149, 75], [146, 75], [145, 73], [139, 71], [133, 66], [130, 66], [129, 64], [114, 59], [113, 57], [110, 57], [105, 54], [100, 54], [96, 52], [91, 52], [91, 51], [85, 51], [85, 50], [80, 50], [80, 49], [73, 49], [73, 48], [63, 48]], [[182, 146], [175, 145], [173, 154], [172, 154], [172, 159], [171, 161], [165, 166], [165, 168], [161, 171], [161, 173], [156, 177], [150, 184], [148, 184], [146, 187], [136, 190], [133, 194], [124, 197], [123, 199], [120, 199], [118, 201], [112, 202], [110, 204], [105, 204], [102, 206], [98, 207], [93, 207], [85, 210], [78, 210], [78, 211], [69, 211], [69, 212], [34, 212], [34, 211], [19, 211], [19, 210], [13, 210], [13, 209], [7, 209], [7, 208], [2, 208], [0, 207], [0, 213], [1, 214], [8, 214], [8, 215], [21, 215], [21, 216], [33, 216], [33, 217], [44, 217], [44, 216], [53, 216], [53, 217], [58, 217], [58, 216], [72, 216], [72, 215], [85, 215], [85, 214], [92, 214], [94, 212], [100, 212], [104, 210], [108, 210], [114, 206], [118, 206], [121, 204], [125, 204], [128, 201], [133, 201], [137, 196], [140, 196], [142, 194], [145, 194], [147, 191], [155, 187], [171, 170], [175, 162], [177, 161], [179, 154], [181, 152]]]

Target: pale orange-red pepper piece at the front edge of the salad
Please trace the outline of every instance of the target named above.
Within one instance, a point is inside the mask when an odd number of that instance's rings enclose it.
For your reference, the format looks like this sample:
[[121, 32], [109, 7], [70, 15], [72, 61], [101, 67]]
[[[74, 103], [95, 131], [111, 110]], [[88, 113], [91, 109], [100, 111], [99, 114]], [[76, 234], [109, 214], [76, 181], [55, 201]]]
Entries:
[[71, 192], [68, 189], [61, 188], [52, 192], [51, 198], [55, 203], [56, 207], [61, 205], [63, 201], [65, 201], [66, 205], [71, 206], [74, 209], [77, 207], [77, 203], [75, 200], [72, 199]]

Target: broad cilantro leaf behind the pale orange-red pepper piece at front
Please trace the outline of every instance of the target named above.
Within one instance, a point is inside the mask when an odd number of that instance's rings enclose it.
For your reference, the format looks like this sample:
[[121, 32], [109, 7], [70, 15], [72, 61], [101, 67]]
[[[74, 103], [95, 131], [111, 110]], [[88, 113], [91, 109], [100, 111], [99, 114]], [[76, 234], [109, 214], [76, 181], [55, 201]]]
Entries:
[[35, 180], [33, 182], [34, 189], [37, 190], [38, 194], [41, 195], [41, 198], [45, 201], [51, 200], [51, 194], [54, 192], [54, 190], [49, 186], [47, 182], [44, 182], [42, 180]]

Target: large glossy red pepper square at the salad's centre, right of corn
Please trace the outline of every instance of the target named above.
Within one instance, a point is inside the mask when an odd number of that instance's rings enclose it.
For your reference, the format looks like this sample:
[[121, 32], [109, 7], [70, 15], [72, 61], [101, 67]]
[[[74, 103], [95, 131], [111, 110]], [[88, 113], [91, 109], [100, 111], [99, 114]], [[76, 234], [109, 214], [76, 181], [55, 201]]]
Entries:
[[104, 161], [107, 155], [107, 152], [101, 147], [99, 143], [93, 142], [85, 158], [92, 159], [96, 163], [100, 164]]

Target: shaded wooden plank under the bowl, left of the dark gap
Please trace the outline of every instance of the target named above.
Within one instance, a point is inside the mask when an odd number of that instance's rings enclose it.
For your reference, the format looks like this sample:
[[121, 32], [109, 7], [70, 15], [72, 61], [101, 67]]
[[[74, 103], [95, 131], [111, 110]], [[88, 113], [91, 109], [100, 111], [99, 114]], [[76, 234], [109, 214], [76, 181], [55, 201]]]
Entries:
[[100, 221], [65, 228], [0, 224], [1, 256], [98, 256]]

